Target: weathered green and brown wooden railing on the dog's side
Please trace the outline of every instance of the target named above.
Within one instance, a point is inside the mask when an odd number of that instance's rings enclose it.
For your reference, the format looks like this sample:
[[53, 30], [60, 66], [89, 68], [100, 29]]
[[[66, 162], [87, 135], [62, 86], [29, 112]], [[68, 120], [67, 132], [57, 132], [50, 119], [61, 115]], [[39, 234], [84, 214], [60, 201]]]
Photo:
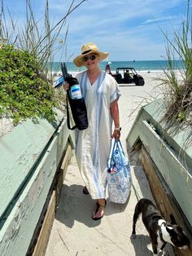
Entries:
[[[142, 148], [142, 166], [164, 218], [168, 220], [169, 214], [175, 215], [177, 223], [185, 228], [191, 239], [192, 130], [191, 127], [177, 129], [170, 135], [164, 130], [163, 116], [161, 100], [143, 107], [129, 132], [127, 144], [129, 151], [138, 145]], [[192, 249], [178, 249], [176, 254], [190, 256]]]

